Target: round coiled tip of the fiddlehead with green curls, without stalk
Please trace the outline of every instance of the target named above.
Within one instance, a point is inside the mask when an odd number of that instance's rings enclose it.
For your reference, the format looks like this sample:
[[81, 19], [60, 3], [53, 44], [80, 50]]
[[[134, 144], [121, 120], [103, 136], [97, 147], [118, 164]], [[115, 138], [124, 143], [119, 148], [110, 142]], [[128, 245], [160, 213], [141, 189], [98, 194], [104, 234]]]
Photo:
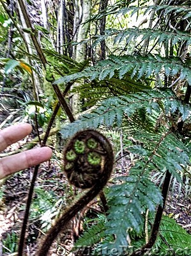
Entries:
[[95, 130], [80, 131], [64, 150], [64, 169], [69, 182], [77, 188], [91, 188], [108, 179], [114, 156], [111, 143]]

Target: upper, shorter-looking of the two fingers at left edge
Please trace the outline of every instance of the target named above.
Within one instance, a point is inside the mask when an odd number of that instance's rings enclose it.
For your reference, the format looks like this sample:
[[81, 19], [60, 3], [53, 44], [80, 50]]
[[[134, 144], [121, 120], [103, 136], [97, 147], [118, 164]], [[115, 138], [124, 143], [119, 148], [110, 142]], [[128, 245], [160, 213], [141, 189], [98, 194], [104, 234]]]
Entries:
[[9, 145], [22, 140], [32, 131], [32, 126], [29, 124], [12, 125], [0, 131], [0, 151], [4, 150]]

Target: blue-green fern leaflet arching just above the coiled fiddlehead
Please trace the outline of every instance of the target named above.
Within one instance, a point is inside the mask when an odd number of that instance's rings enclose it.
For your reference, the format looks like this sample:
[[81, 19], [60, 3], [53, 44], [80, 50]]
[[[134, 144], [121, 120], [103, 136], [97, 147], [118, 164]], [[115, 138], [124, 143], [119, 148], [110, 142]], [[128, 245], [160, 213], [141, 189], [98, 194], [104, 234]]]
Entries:
[[[97, 128], [99, 125], [121, 125], [124, 116], [133, 118], [139, 109], [145, 108], [148, 113], [158, 112], [169, 115], [171, 110], [180, 111], [182, 120], [190, 118], [191, 110], [187, 104], [183, 104], [181, 100], [176, 99], [174, 93], [169, 90], [153, 90], [147, 92], [130, 93], [128, 96], [112, 97], [104, 100], [98, 108], [90, 114], [82, 115], [72, 124], [65, 125], [61, 128], [61, 134], [64, 138], [72, 136], [81, 129]], [[139, 121], [139, 120], [138, 120]], [[132, 120], [133, 125], [136, 119]]]

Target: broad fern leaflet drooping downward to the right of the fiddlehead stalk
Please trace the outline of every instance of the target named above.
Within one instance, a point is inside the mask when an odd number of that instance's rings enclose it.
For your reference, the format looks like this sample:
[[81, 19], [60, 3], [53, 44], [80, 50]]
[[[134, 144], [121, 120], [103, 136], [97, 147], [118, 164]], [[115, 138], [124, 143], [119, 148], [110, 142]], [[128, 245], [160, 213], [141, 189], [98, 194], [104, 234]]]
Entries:
[[[133, 228], [140, 232], [142, 213], [145, 209], [155, 211], [158, 204], [162, 204], [162, 196], [149, 177], [153, 170], [169, 170], [176, 179], [181, 181], [183, 168], [190, 164], [188, 150], [174, 134], [162, 132], [161, 134], [149, 134], [148, 132], [136, 132], [135, 140], [141, 145], [128, 147], [127, 149], [141, 157], [134, 167], [130, 169], [128, 177], [119, 177], [121, 184], [112, 186], [109, 191], [108, 221], [105, 225], [107, 236], [114, 234], [113, 248], [121, 253], [121, 244], [128, 246], [128, 230]], [[174, 147], [176, 145], [176, 147]], [[111, 247], [111, 243], [103, 243], [103, 246]]]

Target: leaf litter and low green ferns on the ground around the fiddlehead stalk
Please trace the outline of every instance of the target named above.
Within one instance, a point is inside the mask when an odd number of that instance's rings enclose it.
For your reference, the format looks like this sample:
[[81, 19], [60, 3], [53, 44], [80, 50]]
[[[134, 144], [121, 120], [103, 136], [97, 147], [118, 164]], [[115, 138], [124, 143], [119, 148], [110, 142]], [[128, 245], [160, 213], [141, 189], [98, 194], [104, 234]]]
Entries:
[[[28, 136], [27, 139], [11, 145], [4, 152], [22, 148], [24, 144], [33, 140], [33, 138], [34, 133]], [[56, 149], [53, 148], [53, 150]], [[68, 184], [62, 171], [62, 155], [58, 155], [60, 157], [57, 159], [52, 158], [40, 166], [27, 232], [28, 255], [35, 255], [36, 242], [43, 236], [45, 230], [50, 227], [52, 219], [58, 216], [66, 205], [72, 202], [76, 194], [80, 194], [80, 191], [76, 191]], [[114, 166], [108, 186], [112, 186], [113, 178], [121, 175], [121, 170], [123, 170], [123, 175], [128, 175], [128, 171], [134, 165], [134, 161], [136, 159], [131, 159], [128, 155], [123, 157], [123, 163], [119, 160]], [[32, 175], [33, 168], [28, 168], [23, 172], [15, 173], [3, 184], [0, 201], [0, 255], [17, 255], [14, 252], [17, 252], [18, 249], [20, 227], [24, 218], [24, 209]], [[176, 184], [174, 190], [169, 193], [164, 214], [176, 220], [181, 227], [191, 234], [190, 212], [191, 199], [188, 196], [185, 197], [185, 191], [183, 189], [180, 190], [180, 187]], [[100, 199], [95, 198], [91, 204], [88, 204], [83, 211], [75, 216], [70, 225], [59, 235], [59, 239], [54, 242], [49, 255], [82, 255], [80, 250], [75, 253], [71, 252], [71, 250], [75, 241], [86, 230], [87, 225], [89, 227], [93, 225], [93, 220], [96, 217], [98, 218], [98, 214], [103, 214], [103, 207]]]

